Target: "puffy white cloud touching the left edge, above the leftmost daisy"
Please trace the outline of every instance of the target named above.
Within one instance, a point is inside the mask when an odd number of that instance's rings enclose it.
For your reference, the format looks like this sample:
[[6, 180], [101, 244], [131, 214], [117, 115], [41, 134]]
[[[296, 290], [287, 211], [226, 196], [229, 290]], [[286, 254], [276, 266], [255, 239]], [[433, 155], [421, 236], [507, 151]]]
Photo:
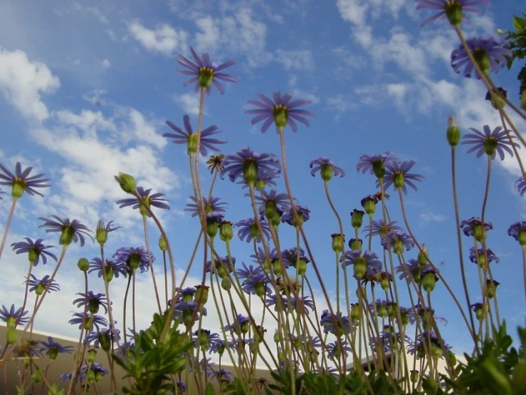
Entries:
[[28, 120], [49, 117], [42, 93], [53, 93], [61, 86], [46, 64], [30, 61], [23, 51], [0, 48], [0, 92], [5, 100]]

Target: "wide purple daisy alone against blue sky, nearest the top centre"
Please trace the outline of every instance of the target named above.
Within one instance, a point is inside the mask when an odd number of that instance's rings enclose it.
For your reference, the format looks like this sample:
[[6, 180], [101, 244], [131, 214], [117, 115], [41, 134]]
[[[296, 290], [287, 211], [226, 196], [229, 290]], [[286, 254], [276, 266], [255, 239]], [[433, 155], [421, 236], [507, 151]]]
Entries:
[[290, 101], [290, 99], [293, 98], [291, 95], [285, 93], [285, 95], [281, 96], [279, 91], [273, 93], [274, 101], [271, 101], [270, 98], [263, 95], [262, 93], [258, 93], [257, 96], [261, 99], [261, 101], [248, 101], [248, 103], [256, 106], [257, 108], [245, 111], [245, 113], [255, 115], [255, 117], [251, 120], [251, 125], [256, 125], [256, 123], [261, 122], [262, 120], [265, 121], [261, 126], [261, 132], [263, 133], [267, 131], [272, 123], [275, 123], [278, 130], [280, 128], [285, 128], [286, 125], [289, 125], [293, 132], [295, 132], [298, 130], [295, 120], [298, 120], [304, 125], [309, 126], [309, 121], [304, 116], [315, 116], [314, 113], [311, 113], [310, 111], [298, 108], [300, 106], [312, 104], [312, 101]]

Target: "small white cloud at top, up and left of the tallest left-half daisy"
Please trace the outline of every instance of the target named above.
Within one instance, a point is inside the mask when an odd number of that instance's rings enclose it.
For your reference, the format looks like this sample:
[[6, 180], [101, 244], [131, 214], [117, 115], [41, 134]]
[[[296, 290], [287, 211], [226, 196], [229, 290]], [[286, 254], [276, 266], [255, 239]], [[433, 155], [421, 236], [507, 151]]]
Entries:
[[169, 24], [159, 24], [152, 30], [135, 20], [128, 24], [128, 30], [148, 51], [164, 53], [167, 56], [184, 48], [188, 39], [186, 31], [174, 29]]

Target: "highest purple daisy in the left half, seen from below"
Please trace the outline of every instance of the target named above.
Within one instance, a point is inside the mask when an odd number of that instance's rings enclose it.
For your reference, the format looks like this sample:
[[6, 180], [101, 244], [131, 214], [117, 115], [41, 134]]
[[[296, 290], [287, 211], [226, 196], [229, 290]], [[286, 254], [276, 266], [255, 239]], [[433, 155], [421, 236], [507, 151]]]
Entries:
[[194, 48], [190, 47], [190, 51], [194, 61], [191, 61], [181, 54], [179, 54], [176, 59], [177, 63], [185, 68], [185, 70], [179, 70], [177, 72], [192, 77], [184, 83], [184, 86], [196, 83], [194, 91], [197, 92], [199, 89], [206, 89], [206, 94], [210, 94], [211, 86], [214, 84], [221, 95], [223, 95], [225, 89], [217, 80], [233, 83], [239, 82], [239, 78], [236, 76], [219, 73], [219, 71], [236, 64], [236, 61], [227, 61], [218, 65], [210, 60], [208, 53], [203, 53], [200, 58]]

